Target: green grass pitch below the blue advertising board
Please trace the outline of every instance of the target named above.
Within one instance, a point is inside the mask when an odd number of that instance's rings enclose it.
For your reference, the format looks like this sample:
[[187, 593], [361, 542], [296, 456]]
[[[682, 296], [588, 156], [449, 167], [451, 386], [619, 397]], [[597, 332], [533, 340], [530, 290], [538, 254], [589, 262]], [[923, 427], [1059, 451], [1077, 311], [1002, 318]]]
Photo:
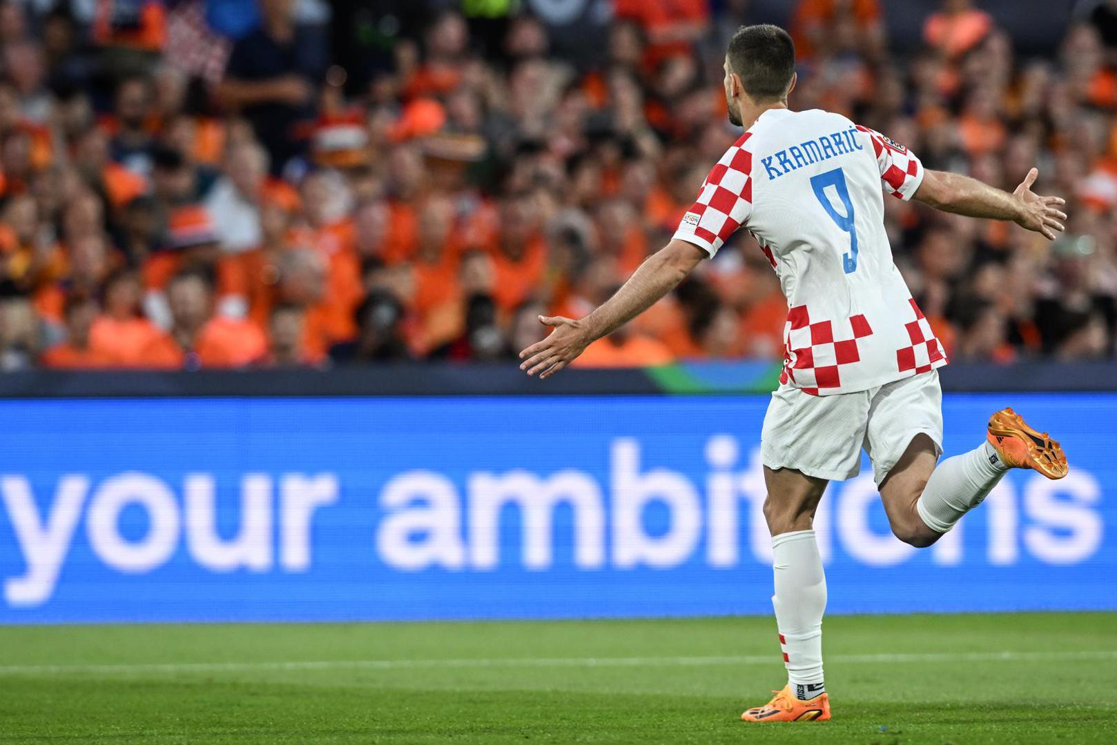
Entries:
[[829, 723], [746, 725], [771, 619], [0, 628], [2, 743], [1117, 743], [1117, 614], [837, 617]]

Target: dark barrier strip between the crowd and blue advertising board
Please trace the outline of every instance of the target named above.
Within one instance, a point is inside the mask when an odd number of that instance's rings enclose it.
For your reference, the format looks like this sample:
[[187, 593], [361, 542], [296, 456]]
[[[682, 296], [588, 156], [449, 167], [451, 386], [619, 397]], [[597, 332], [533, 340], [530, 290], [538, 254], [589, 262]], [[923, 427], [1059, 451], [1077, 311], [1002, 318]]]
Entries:
[[[766, 393], [779, 366], [758, 362], [681, 363], [642, 370], [567, 370], [546, 381], [514, 364], [382, 364], [333, 370], [61, 372], [0, 374], [0, 399], [288, 395], [617, 395]], [[1115, 391], [1117, 362], [952, 364], [955, 392]]]

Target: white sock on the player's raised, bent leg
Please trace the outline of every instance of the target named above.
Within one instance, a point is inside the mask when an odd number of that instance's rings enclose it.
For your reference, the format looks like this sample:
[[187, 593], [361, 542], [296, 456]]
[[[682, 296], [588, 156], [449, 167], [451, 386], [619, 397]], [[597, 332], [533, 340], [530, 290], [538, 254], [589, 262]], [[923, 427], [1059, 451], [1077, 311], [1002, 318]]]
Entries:
[[947, 458], [932, 471], [916, 502], [919, 517], [930, 529], [946, 533], [963, 515], [982, 503], [1008, 470], [1009, 467], [989, 442]]

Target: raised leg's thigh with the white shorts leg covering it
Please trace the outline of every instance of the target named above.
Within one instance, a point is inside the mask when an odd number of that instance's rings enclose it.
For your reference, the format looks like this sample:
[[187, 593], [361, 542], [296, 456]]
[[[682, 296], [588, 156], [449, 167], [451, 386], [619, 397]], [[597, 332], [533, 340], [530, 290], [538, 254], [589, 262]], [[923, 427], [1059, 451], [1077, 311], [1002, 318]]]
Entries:
[[886, 503], [901, 495], [919, 496], [943, 451], [942, 442], [943, 391], [937, 372], [880, 389], [869, 409], [865, 449]]

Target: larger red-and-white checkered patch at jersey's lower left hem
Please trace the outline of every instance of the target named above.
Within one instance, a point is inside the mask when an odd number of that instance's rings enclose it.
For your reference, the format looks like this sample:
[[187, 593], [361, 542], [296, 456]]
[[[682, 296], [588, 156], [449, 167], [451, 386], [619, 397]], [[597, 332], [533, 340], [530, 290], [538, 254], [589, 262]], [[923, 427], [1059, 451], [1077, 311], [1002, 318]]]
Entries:
[[869, 321], [861, 314], [812, 322], [805, 305], [791, 308], [784, 326], [780, 382], [790, 380], [811, 395], [819, 395], [820, 389], [841, 388], [841, 366], [861, 361], [858, 341], [871, 335]]

